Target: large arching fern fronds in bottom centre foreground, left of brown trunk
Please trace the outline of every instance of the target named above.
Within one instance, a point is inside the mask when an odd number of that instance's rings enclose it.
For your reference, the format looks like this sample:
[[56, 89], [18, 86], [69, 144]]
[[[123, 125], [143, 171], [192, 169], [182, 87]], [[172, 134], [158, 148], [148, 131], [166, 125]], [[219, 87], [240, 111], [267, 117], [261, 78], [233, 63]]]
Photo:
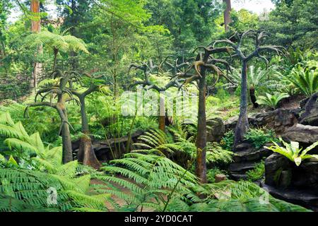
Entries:
[[[107, 190], [110, 194], [122, 198], [125, 210], [142, 210], [151, 208], [157, 211], [171, 211], [180, 200], [194, 200], [195, 194], [190, 190], [196, 186], [194, 174], [159, 155], [129, 153], [120, 160], [112, 160], [112, 165], [102, 167], [105, 172], [122, 175], [103, 179], [129, 189], [129, 194], [118, 189]], [[131, 182], [133, 180], [133, 182]]]

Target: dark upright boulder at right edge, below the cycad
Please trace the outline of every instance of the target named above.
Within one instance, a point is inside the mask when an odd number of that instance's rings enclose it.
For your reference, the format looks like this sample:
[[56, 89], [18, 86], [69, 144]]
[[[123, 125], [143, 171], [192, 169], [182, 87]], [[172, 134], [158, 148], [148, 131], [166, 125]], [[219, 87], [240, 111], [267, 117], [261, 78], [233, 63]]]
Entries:
[[300, 116], [300, 124], [318, 126], [318, 93], [307, 101], [305, 112]]

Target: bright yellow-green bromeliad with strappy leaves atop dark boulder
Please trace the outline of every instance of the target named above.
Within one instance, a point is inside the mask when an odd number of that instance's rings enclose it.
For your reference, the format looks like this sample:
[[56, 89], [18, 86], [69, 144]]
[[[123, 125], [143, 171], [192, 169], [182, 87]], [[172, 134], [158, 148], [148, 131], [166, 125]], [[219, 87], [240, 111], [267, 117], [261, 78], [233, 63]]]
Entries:
[[275, 153], [280, 153], [281, 155], [284, 155], [287, 157], [290, 161], [295, 162], [295, 165], [299, 166], [302, 160], [305, 160], [307, 158], [316, 158], [318, 160], [318, 155], [307, 155], [307, 152], [312, 150], [318, 145], [318, 141], [310, 145], [305, 150], [302, 150], [302, 148], [299, 147], [299, 143], [295, 141], [291, 141], [290, 143], [286, 143], [283, 141], [282, 138], [279, 138], [279, 141], [285, 145], [285, 148], [278, 145], [275, 141], [273, 141], [273, 144], [271, 147], [264, 147], [269, 150], [273, 150]]

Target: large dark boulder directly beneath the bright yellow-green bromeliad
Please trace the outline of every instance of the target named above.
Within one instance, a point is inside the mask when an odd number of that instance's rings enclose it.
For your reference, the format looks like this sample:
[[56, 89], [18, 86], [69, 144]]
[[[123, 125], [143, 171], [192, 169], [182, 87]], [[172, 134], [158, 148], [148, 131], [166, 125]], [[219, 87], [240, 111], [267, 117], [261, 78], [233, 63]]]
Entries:
[[265, 182], [261, 186], [284, 201], [318, 210], [318, 160], [304, 160], [300, 166], [273, 153], [265, 160]]

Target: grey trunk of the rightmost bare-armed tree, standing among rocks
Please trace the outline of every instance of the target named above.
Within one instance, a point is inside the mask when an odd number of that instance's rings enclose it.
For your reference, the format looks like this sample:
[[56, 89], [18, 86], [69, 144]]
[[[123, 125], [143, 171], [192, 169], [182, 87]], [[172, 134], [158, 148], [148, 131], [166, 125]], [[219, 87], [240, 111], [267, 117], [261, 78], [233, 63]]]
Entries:
[[233, 148], [235, 148], [235, 146], [243, 140], [247, 129], [249, 129], [249, 120], [247, 117], [247, 62], [243, 61], [240, 97], [240, 116], [237, 120], [237, 125], [235, 127], [235, 138]]

